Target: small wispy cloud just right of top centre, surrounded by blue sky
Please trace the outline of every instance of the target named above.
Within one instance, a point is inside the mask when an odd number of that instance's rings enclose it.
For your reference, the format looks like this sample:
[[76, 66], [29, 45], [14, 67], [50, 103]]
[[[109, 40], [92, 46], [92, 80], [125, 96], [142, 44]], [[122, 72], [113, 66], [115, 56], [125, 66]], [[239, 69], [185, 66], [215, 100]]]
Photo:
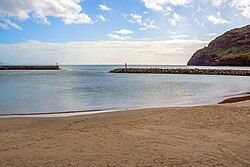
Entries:
[[[126, 17], [128, 17], [128, 16], [126, 16]], [[140, 26], [143, 26], [139, 30], [147, 30], [147, 29], [157, 28], [154, 20], [150, 19], [149, 17], [144, 18], [143, 16], [138, 15], [138, 14], [134, 14], [134, 13], [129, 14], [128, 21], [131, 23], [136, 23], [136, 24], [139, 24]]]

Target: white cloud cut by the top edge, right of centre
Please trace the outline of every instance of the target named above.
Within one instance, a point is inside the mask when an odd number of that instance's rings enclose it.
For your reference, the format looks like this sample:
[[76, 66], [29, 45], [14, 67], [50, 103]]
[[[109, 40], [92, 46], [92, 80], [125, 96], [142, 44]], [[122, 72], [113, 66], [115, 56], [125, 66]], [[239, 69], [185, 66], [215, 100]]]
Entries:
[[171, 6], [186, 5], [190, 0], [142, 0], [146, 8], [154, 11], [162, 11], [169, 14], [173, 9]]

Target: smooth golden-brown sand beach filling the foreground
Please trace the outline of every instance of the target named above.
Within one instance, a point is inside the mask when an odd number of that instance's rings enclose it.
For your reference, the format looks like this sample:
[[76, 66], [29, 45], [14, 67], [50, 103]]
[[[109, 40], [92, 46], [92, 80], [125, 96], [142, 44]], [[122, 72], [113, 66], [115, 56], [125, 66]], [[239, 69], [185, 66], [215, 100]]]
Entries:
[[250, 166], [249, 104], [0, 119], [0, 166]]

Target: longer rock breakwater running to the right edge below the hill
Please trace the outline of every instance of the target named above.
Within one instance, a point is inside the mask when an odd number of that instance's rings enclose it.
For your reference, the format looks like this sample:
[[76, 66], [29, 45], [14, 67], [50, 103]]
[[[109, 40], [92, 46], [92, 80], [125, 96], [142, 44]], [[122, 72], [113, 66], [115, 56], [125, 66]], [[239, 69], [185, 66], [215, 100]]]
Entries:
[[146, 74], [198, 74], [198, 75], [239, 75], [250, 76], [250, 70], [231, 69], [182, 69], [182, 68], [116, 68], [110, 73], [146, 73]]

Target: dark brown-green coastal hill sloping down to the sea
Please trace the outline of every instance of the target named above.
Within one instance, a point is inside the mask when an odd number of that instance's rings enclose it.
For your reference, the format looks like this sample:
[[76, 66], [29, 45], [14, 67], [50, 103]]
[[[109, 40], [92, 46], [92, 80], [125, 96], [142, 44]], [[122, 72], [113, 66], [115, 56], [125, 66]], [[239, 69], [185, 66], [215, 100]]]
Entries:
[[230, 30], [194, 53], [188, 65], [250, 66], [250, 25]]

